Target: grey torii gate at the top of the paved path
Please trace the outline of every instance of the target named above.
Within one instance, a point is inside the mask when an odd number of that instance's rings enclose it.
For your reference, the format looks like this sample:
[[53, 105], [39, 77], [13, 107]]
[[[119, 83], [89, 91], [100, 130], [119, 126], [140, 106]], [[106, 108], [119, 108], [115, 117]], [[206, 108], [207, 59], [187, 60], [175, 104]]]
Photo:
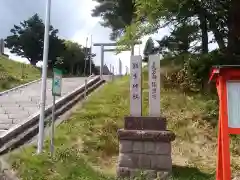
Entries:
[[[142, 41], [137, 41], [134, 43], [142, 44]], [[131, 55], [134, 55], [134, 45], [131, 47]], [[100, 77], [103, 75], [103, 64], [104, 64], [104, 53], [105, 52], [114, 52], [116, 49], [104, 49], [105, 46], [117, 46], [117, 43], [94, 43], [93, 46], [100, 46], [101, 47], [101, 65], [100, 65]], [[128, 51], [128, 50], [126, 50]]]

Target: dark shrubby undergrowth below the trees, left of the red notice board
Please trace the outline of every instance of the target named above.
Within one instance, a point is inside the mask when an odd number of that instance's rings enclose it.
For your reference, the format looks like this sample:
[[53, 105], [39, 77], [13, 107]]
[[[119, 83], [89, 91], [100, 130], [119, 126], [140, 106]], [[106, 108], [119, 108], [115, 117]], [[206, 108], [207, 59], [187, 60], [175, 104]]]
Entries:
[[[168, 59], [164, 61], [166, 62]], [[183, 54], [170, 58], [169, 61], [172, 61], [173, 64], [176, 61], [178, 65], [166, 73], [165, 85], [179, 87], [185, 92], [209, 90], [211, 88], [211, 85], [208, 84], [210, 69], [214, 65], [226, 63], [225, 57], [219, 51], [203, 55]]]

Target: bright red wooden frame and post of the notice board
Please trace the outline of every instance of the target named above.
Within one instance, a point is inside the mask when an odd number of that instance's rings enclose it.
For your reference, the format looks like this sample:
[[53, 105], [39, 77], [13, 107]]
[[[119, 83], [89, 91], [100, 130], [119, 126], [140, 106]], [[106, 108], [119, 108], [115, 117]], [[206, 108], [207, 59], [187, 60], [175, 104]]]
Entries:
[[237, 81], [240, 86], [240, 66], [219, 66], [212, 69], [210, 81], [216, 79], [219, 96], [218, 157], [216, 180], [231, 180], [229, 134], [240, 134], [239, 127], [229, 127], [227, 82]]

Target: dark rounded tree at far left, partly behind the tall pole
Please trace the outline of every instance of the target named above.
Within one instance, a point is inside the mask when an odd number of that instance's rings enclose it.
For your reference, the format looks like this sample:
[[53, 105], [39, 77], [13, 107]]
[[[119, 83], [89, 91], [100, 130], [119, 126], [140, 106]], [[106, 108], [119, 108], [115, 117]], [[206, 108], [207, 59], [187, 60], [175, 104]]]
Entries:
[[[43, 58], [44, 23], [38, 14], [33, 15], [20, 25], [14, 25], [10, 30], [12, 35], [5, 39], [6, 47], [11, 53], [27, 58], [36, 65]], [[58, 30], [50, 26], [49, 59], [54, 61], [63, 49], [62, 41], [57, 37]]]

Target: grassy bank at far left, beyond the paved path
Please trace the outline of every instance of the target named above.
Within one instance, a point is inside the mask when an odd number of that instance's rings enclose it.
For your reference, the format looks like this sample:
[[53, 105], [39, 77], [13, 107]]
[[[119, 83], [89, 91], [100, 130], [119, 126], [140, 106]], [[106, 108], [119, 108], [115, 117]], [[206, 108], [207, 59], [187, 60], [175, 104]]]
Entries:
[[40, 70], [0, 56], [0, 91], [40, 78]]

